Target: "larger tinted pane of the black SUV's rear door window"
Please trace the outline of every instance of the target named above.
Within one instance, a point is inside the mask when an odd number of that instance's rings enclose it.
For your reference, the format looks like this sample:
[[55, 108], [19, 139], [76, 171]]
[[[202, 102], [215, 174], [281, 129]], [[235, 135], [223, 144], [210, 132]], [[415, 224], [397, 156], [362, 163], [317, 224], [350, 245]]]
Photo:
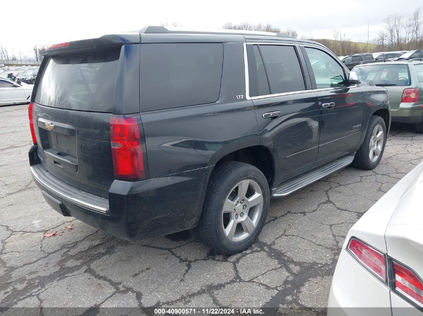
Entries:
[[260, 45], [270, 93], [305, 90], [304, 78], [295, 49], [285, 45]]

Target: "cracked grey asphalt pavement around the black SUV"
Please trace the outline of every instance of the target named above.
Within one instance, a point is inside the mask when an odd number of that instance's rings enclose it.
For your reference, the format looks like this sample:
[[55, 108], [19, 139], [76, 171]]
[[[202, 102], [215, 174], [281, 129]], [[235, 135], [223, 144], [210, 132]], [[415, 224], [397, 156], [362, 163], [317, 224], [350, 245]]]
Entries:
[[[1, 129], [7, 126], [7, 122], [11, 119], [25, 117], [27, 109], [25, 106], [16, 106], [13, 110], [0, 110], [3, 114], [0, 120]], [[303, 303], [305, 301], [318, 306], [321, 304], [319, 298], [313, 298], [313, 294], [308, 294], [303, 289], [310, 285], [318, 285], [323, 289], [322, 296], [328, 294], [327, 282], [333, 275], [340, 245], [348, 228], [383, 193], [421, 161], [423, 135], [401, 128], [392, 128], [382, 160], [376, 169], [365, 171], [344, 168], [284, 199], [272, 200], [270, 215], [265, 226], [265, 237], [262, 234], [262, 238], [259, 236], [250, 249], [234, 256], [222, 256], [206, 250], [192, 231], [187, 238], [176, 241], [168, 237], [158, 237], [148, 241], [127, 242], [93, 230], [78, 220], [59, 217], [41, 198], [30, 174], [22, 172], [28, 168], [27, 161], [13, 159], [16, 155], [22, 155], [22, 149], [29, 148], [30, 142], [10, 140], [10, 143], [0, 150], [2, 157], [0, 185], [1, 188], [8, 188], [8, 193], [0, 193], [0, 208], [3, 210], [0, 213], [0, 308], [13, 307], [34, 297], [39, 308], [50, 306], [53, 298], [43, 296], [47, 290], [56, 289], [58, 284], [72, 287], [82, 275], [89, 275], [90, 280], [98, 280], [111, 289], [107, 294], [101, 291], [92, 294], [98, 296], [98, 302], [86, 306], [85, 311], [81, 312], [87, 316], [98, 315], [105, 302], [117, 295], [129, 293], [135, 296], [134, 303], [140, 308], [183, 307], [192, 302], [200, 302], [198, 304], [203, 304], [205, 307], [211, 307], [209, 305], [226, 307], [225, 304], [236, 304], [235, 298], [234, 300], [227, 298], [233, 295], [231, 289], [238, 286], [246, 292], [242, 295], [254, 297], [264, 307], [305, 308]], [[17, 133], [24, 135], [26, 130], [16, 131], [15, 134]], [[11, 182], [10, 177], [13, 179], [18, 175], [22, 175], [19, 177], [22, 180]], [[23, 192], [35, 194], [35, 201], [23, 199]], [[355, 201], [353, 197], [357, 195], [363, 198]], [[318, 200], [314, 201], [316, 197]], [[332, 209], [337, 212], [336, 220], [327, 215]], [[326, 216], [324, 220], [318, 217], [319, 212], [324, 212], [322, 213]], [[39, 219], [37, 214], [40, 214]], [[278, 229], [277, 224], [284, 222], [284, 219], [293, 223], [287, 226], [289, 230], [287, 227]], [[34, 227], [34, 220], [40, 222], [37, 224], [39, 227]], [[306, 221], [305, 224], [318, 224], [317, 227], [321, 227], [323, 231], [313, 231], [312, 235], [309, 235], [300, 227], [296, 227], [296, 224], [302, 221]], [[73, 224], [74, 229], [62, 237], [52, 237], [48, 240], [42, 237], [47, 231], [66, 231], [66, 226], [70, 224]], [[17, 236], [18, 234], [20, 235]], [[29, 236], [26, 234], [34, 236], [40, 234], [39, 237], [34, 237], [40, 238], [39, 245], [32, 246], [34, 249], [28, 250], [28, 246], [24, 244], [25, 239], [20, 242], [22, 237]], [[315, 236], [313, 234], [320, 239], [311, 238], [310, 236]], [[289, 247], [295, 245], [287, 245], [286, 241], [281, 240], [283, 238], [304, 241], [307, 245], [305, 252], [293, 254]], [[322, 244], [323, 240], [328, 242]], [[283, 243], [283, 247], [288, 247], [288, 250], [279, 249], [280, 243]], [[151, 254], [155, 257], [144, 258], [142, 253], [132, 257], [125, 252], [129, 247], [135, 247], [141, 252], [153, 251]], [[316, 249], [317, 257], [312, 252]], [[306, 251], [310, 251], [310, 254], [307, 255]], [[119, 264], [108, 267], [109, 259], [116, 253], [124, 255], [120, 258]], [[271, 265], [265, 266], [265, 260], [260, 260], [261, 254], [265, 255]], [[20, 259], [14, 259], [14, 256]], [[141, 265], [147, 259], [154, 262], [152, 267], [140, 268], [138, 272], [130, 273], [134, 267]], [[171, 259], [179, 265], [168, 267]], [[14, 260], [18, 262], [14, 263]], [[103, 260], [102, 268], [106, 265], [106, 270], [98, 271], [96, 264], [99, 260]], [[216, 266], [216, 263], [220, 264]], [[227, 265], [228, 263], [230, 265]], [[207, 267], [230, 269], [231, 274], [227, 274], [230, 277], [216, 283], [207, 279], [204, 271], [203, 275], [196, 272], [194, 268], [198, 269], [198, 264], [205, 266], [203, 269], [206, 269], [206, 272]], [[286, 276], [281, 278], [283, 281], [280, 281], [280, 284], [277, 282], [267, 284], [268, 281], [264, 276], [269, 272], [280, 271], [279, 269], [286, 271]], [[120, 272], [119, 275], [125, 277], [119, 279], [115, 276], [115, 272]], [[220, 275], [222, 272], [210, 271], [211, 276], [213, 273]], [[137, 282], [141, 284], [145, 282], [154, 284], [155, 293], [152, 293], [151, 289], [140, 291], [142, 286], [132, 282], [132, 278], [137, 278]], [[191, 284], [196, 284], [195, 289], [186, 288], [181, 293], [174, 293], [175, 284], [183, 287], [187, 278], [190, 278]], [[83, 283], [77, 286], [76, 289], [89, 287], [90, 284]], [[83, 304], [83, 299], [79, 298], [76, 292], [75, 306]], [[201, 303], [201, 300], [206, 301]], [[42, 309], [40, 315], [44, 315]]]

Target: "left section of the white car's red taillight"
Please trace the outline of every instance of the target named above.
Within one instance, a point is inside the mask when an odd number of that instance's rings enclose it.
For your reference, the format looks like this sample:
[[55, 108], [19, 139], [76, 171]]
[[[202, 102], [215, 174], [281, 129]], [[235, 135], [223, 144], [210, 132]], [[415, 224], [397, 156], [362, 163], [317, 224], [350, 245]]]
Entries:
[[371, 273], [386, 282], [386, 257], [384, 254], [355, 238], [351, 238], [349, 241], [348, 250]]

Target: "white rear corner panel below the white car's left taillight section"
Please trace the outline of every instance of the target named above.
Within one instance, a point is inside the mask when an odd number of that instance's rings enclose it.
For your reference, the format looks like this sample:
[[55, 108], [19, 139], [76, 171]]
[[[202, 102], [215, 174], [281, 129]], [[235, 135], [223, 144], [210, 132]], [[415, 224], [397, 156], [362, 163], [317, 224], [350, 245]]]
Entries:
[[327, 304], [328, 316], [390, 315], [389, 288], [342, 249]]

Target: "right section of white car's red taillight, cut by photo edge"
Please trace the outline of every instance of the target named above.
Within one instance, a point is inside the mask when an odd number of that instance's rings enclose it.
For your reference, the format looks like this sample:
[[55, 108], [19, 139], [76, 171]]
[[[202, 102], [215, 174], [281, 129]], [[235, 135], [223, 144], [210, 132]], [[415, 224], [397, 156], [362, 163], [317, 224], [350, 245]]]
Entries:
[[420, 278], [401, 264], [392, 262], [392, 266], [395, 278], [392, 283], [393, 290], [423, 307], [423, 282]]

